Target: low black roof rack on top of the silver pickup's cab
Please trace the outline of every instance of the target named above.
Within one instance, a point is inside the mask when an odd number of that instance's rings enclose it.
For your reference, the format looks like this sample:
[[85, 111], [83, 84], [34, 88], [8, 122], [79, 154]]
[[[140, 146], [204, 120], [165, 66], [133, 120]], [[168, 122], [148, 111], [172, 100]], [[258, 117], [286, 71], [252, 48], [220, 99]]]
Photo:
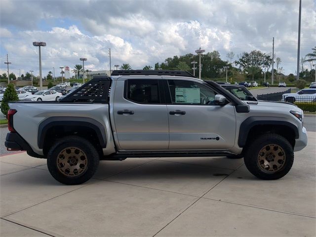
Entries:
[[131, 76], [131, 75], [153, 75], [153, 76], [177, 76], [196, 78], [187, 71], [172, 71], [172, 70], [114, 70], [111, 76]]

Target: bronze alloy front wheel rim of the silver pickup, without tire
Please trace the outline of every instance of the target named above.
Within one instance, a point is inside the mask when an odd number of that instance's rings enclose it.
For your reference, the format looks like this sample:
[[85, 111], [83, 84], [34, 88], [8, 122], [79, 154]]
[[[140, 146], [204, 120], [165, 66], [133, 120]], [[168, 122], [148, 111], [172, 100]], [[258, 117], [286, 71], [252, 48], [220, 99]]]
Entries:
[[285, 152], [276, 144], [264, 146], [258, 155], [259, 167], [268, 173], [275, 173], [285, 164]]

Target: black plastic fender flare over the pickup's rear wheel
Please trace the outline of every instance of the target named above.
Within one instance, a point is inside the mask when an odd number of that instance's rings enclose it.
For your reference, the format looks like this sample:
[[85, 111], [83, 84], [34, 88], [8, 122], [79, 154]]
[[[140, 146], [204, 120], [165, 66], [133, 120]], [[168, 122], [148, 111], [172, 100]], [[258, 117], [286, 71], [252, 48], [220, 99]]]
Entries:
[[50, 117], [40, 122], [39, 125], [38, 146], [40, 149], [43, 148], [44, 139], [48, 129], [54, 126], [79, 126], [91, 128], [96, 132], [101, 147], [106, 148], [107, 136], [105, 133], [105, 127], [97, 120], [86, 117]]

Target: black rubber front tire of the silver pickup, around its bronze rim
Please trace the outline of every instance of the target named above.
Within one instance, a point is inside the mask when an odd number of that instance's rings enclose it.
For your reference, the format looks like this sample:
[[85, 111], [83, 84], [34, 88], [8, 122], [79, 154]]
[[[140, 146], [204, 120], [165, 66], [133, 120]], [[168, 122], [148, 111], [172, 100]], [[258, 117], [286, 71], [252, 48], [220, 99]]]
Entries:
[[[269, 144], [276, 144], [285, 154], [283, 166], [273, 173], [271, 171], [266, 172], [263, 170], [263, 168], [260, 167], [258, 159], [262, 148], [268, 146]], [[282, 178], [290, 171], [294, 162], [294, 152], [291, 144], [284, 137], [278, 134], [269, 133], [259, 136], [251, 144], [249, 144], [244, 156], [244, 162], [250, 173], [259, 179], [275, 180]]]

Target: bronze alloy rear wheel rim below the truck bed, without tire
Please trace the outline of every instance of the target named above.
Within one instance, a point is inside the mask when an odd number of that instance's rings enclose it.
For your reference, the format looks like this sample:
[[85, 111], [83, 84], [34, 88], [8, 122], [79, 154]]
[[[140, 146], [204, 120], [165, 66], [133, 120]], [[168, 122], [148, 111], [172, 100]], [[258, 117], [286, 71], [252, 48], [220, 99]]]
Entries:
[[70, 177], [79, 176], [87, 169], [87, 156], [77, 147], [67, 147], [57, 156], [58, 170]]

